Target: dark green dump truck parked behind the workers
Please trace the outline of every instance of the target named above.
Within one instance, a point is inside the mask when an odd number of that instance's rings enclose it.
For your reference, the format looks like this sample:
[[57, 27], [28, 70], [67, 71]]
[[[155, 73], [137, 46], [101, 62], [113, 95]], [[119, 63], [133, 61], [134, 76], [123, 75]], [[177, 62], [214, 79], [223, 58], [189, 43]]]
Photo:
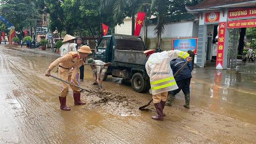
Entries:
[[111, 62], [105, 78], [108, 75], [131, 80], [134, 91], [147, 92], [150, 89], [150, 81], [146, 72], [147, 50], [141, 37], [113, 34], [103, 36], [97, 44], [94, 59], [103, 62]]

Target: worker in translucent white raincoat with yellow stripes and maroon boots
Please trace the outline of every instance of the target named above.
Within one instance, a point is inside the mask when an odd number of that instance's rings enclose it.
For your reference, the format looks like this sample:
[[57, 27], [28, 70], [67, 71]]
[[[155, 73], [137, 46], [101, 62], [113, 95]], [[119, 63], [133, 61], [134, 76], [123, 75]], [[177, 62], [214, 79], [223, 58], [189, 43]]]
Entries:
[[146, 63], [147, 74], [150, 78], [151, 92], [153, 94], [153, 102], [156, 108], [157, 115], [152, 116], [152, 119], [163, 121], [163, 109], [168, 97], [168, 91], [178, 89], [175, 79], [172, 74], [170, 61], [175, 58], [190, 60], [187, 52], [179, 50], [157, 52], [156, 50], [147, 50], [144, 53], [147, 55]]

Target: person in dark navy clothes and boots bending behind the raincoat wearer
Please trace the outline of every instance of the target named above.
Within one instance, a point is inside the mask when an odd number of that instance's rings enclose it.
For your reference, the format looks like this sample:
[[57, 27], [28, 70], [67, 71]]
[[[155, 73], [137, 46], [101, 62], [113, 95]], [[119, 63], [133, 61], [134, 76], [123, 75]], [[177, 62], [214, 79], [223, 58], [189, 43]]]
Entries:
[[[170, 62], [173, 75], [184, 65], [185, 62], [186, 60], [180, 59], [180, 58], [173, 59]], [[192, 71], [192, 63], [190, 61], [188, 65], [185, 66], [180, 71], [180, 73], [174, 77], [179, 89], [168, 92], [169, 97], [167, 99], [167, 102], [165, 103], [166, 106], [172, 106], [172, 102], [174, 101], [175, 95], [182, 90], [182, 92], [185, 95], [185, 101], [186, 101], [186, 105], [184, 105], [184, 107], [189, 108], [189, 102], [190, 102], [189, 86], [190, 86], [190, 79], [192, 78], [191, 71]]]

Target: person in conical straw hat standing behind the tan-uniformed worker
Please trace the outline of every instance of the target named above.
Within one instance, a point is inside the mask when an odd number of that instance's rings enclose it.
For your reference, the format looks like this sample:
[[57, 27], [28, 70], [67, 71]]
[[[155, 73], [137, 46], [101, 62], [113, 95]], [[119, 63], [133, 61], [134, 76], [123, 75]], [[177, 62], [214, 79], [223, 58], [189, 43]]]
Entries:
[[76, 39], [76, 37], [74, 36], [70, 36], [70, 35], [66, 35], [62, 41], [62, 43], [64, 43], [61, 47], [60, 47], [60, 57], [63, 57], [64, 55], [68, 54], [69, 52], [76, 52], [76, 44], [74, 43], [74, 40]]

